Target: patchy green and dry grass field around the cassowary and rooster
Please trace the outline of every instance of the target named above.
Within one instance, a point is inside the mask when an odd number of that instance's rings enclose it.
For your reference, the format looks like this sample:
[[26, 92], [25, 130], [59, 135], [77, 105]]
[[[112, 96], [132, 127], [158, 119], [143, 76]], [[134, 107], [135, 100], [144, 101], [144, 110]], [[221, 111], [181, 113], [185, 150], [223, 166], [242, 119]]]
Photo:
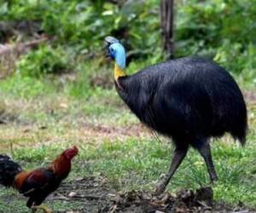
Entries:
[[[65, 83], [19, 76], [1, 81], [0, 111], [7, 118], [12, 116], [0, 128], [1, 153], [12, 154], [26, 169], [32, 169], [49, 164], [57, 153], [77, 144], [80, 155], [75, 158], [67, 181], [102, 174], [117, 190], [154, 190], [170, 164], [172, 145], [163, 137], [160, 137], [162, 142], [155, 140], [113, 88], [88, 86], [87, 78], [96, 67], [90, 64], [89, 74], [79, 72], [79, 78]], [[212, 187], [217, 201], [231, 205], [241, 201], [255, 209], [256, 108], [250, 101], [247, 105], [250, 122], [247, 146], [240, 147], [229, 135], [212, 141], [219, 177]], [[168, 190], [175, 192], [178, 188], [206, 185], [206, 166], [191, 149]], [[11, 189], [1, 190], [0, 200], [0, 210], [4, 212], [17, 209], [26, 212], [25, 200]], [[55, 201], [50, 206], [54, 210], [72, 210], [76, 203]]]

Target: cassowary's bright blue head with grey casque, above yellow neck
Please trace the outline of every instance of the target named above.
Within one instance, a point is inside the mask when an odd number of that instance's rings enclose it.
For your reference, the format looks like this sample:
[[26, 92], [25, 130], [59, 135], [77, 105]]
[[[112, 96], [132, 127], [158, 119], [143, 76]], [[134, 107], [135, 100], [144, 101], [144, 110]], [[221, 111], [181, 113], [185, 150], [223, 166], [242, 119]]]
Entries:
[[108, 56], [115, 60], [121, 69], [124, 69], [126, 66], [126, 56], [123, 45], [114, 37], [106, 37], [105, 41], [107, 42]]

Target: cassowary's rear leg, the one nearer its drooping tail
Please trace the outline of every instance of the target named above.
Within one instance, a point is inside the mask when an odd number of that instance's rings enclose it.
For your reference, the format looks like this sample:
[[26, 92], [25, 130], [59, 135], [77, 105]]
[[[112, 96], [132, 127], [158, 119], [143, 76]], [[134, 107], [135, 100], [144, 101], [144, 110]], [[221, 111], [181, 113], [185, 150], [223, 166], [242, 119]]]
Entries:
[[207, 170], [210, 176], [211, 181], [218, 181], [217, 173], [214, 169], [214, 164], [212, 162], [212, 153], [211, 153], [211, 147], [208, 141], [201, 141], [198, 143], [198, 145], [193, 145], [199, 153], [201, 153], [201, 156], [204, 158], [206, 164], [207, 164]]

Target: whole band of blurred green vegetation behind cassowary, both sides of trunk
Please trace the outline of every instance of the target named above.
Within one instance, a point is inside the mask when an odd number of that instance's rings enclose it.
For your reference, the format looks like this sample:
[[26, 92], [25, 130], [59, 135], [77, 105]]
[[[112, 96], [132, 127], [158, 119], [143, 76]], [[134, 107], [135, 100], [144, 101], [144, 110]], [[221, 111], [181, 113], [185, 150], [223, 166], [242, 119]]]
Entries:
[[[174, 2], [175, 57], [205, 56], [249, 87], [255, 85], [256, 1]], [[102, 72], [103, 39], [108, 35], [125, 43], [129, 61], [146, 66], [166, 58], [158, 0], [2, 0], [0, 17], [1, 43], [25, 42], [42, 34], [51, 38], [15, 60], [11, 67], [23, 76], [79, 72], [89, 60], [98, 60], [94, 72]]]

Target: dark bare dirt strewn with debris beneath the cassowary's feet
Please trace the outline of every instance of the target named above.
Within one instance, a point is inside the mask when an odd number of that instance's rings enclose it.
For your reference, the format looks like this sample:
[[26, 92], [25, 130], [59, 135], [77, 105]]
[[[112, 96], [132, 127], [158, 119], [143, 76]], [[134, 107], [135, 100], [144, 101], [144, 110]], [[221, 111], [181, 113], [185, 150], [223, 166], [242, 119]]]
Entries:
[[181, 190], [175, 195], [164, 193], [154, 196], [148, 192], [130, 191], [117, 192], [110, 187], [108, 181], [100, 177], [79, 178], [76, 181], [64, 183], [57, 193], [48, 199], [50, 205], [54, 200], [63, 202], [79, 202], [70, 211], [57, 211], [58, 213], [185, 213], [185, 212], [256, 212], [247, 210], [242, 204], [230, 207], [226, 204], [218, 204], [213, 201], [211, 187], [200, 188], [195, 191]]

